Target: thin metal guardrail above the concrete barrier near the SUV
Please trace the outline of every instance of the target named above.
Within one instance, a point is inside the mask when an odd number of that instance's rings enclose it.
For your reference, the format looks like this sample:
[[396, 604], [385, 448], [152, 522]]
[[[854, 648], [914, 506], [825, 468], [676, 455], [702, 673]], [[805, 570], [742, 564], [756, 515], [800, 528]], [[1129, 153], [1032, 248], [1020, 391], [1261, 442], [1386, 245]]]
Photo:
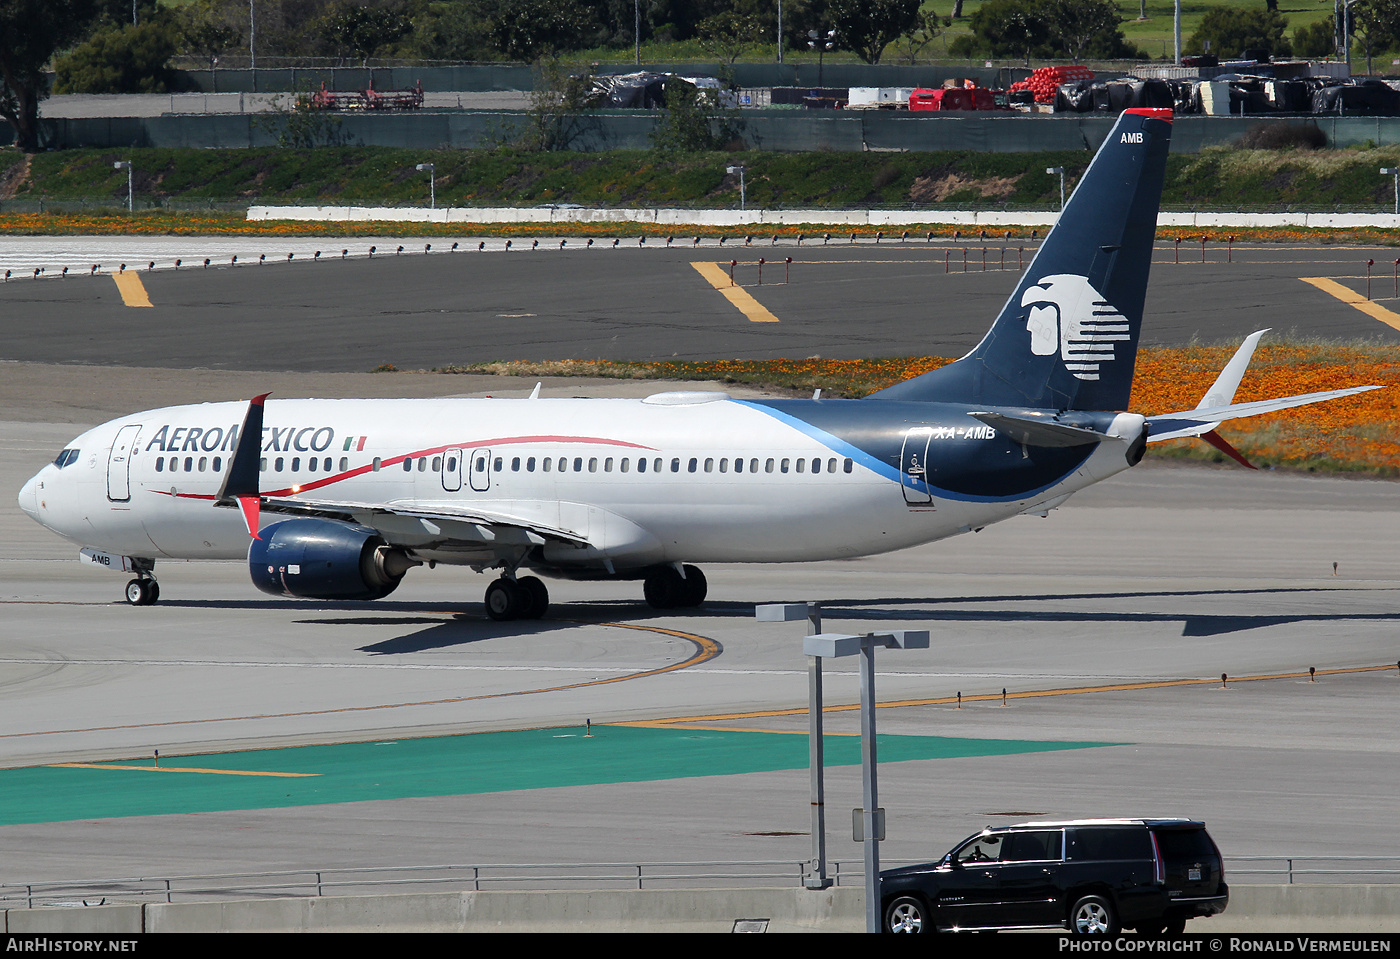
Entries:
[[[920, 860], [886, 860], [886, 867]], [[1369, 864], [1369, 865], [1364, 865]], [[802, 885], [805, 862], [750, 860], [714, 862], [500, 862], [482, 865], [339, 867], [202, 876], [146, 876], [63, 882], [0, 883], [0, 909], [99, 906], [112, 903], [214, 902], [227, 899], [293, 899], [385, 892], [451, 889], [725, 889]], [[860, 886], [860, 860], [829, 864], [837, 886]], [[1319, 881], [1329, 883], [1400, 882], [1400, 857], [1373, 855], [1240, 855], [1225, 862], [1239, 882]]]

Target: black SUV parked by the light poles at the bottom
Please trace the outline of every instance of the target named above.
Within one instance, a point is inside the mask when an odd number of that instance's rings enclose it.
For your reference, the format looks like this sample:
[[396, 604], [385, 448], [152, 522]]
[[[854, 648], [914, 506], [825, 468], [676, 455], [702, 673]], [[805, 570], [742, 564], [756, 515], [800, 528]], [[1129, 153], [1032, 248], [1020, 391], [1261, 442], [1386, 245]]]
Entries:
[[886, 932], [1180, 934], [1229, 889], [1205, 823], [1084, 819], [988, 826], [938, 862], [881, 872], [881, 899]]

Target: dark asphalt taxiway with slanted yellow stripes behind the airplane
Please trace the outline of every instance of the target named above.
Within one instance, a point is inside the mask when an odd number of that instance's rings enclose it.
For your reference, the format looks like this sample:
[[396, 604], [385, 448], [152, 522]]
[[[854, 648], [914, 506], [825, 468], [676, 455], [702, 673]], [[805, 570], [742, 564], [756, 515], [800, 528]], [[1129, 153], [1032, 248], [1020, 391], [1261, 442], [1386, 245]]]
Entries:
[[[108, 244], [111, 241], [106, 241]], [[384, 255], [399, 244], [374, 239], [326, 241], [318, 263], [252, 265], [246, 239], [150, 241], [134, 263], [157, 259], [141, 272], [151, 308], [122, 304], [109, 276], [45, 277], [0, 284], [0, 358], [213, 370], [368, 371], [384, 363], [405, 370], [490, 360], [701, 360], [890, 356], [962, 356], [972, 349], [1015, 286], [1018, 262], [1008, 246], [886, 241], [851, 246], [755, 245], [718, 249], [580, 249], [563, 252], [545, 241], [539, 252], [517, 241], [510, 253], [424, 255], [452, 241], [403, 238], [402, 256]], [[316, 241], [297, 241], [315, 245]], [[501, 241], [497, 241], [500, 245]], [[659, 241], [664, 244], [664, 238]], [[818, 241], [819, 242], [819, 241]], [[553, 244], [553, 248], [549, 245]], [[269, 244], [272, 249], [281, 249]], [[53, 263], [77, 259], [66, 246]], [[185, 266], [169, 269], [176, 249]], [[230, 266], [230, 249], [242, 249]], [[340, 249], [351, 256], [339, 259]], [[962, 270], [967, 249], [969, 269]], [[203, 252], [203, 255], [200, 255]], [[133, 253], [137, 251], [133, 249]], [[1400, 332], [1299, 276], [1338, 279], [1365, 291], [1365, 262], [1376, 260], [1372, 294], [1394, 307], [1389, 276], [1394, 251], [1364, 248], [1236, 248], [1207, 251], [1183, 244], [1176, 263], [1172, 244], [1158, 246], [1144, 319], [1145, 344], [1238, 342], [1256, 329], [1275, 335], [1400, 342]], [[1197, 260], [1191, 260], [1194, 255]], [[1226, 255], [1232, 262], [1225, 262]], [[0, 263], [6, 262], [0, 244]], [[200, 265], [209, 256], [211, 266]], [[333, 258], [335, 256], [335, 258]], [[781, 260], [792, 258], [791, 280]], [[332, 259], [333, 258], [333, 259]], [[757, 260], [764, 258], [763, 286]], [[1026, 253], [1029, 258], [1029, 252]], [[34, 251], [11, 258], [25, 265]], [[91, 259], [91, 258], [88, 258]], [[109, 256], [113, 270], [118, 256]], [[777, 323], [749, 322], [690, 263], [739, 266], [741, 284], [774, 314]], [[778, 260], [778, 262], [774, 262]], [[190, 263], [196, 266], [192, 269]], [[32, 277], [32, 267], [29, 276]], [[945, 272], [945, 269], [948, 272]], [[1400, 322], [1400, 321], [1397, 321]]]

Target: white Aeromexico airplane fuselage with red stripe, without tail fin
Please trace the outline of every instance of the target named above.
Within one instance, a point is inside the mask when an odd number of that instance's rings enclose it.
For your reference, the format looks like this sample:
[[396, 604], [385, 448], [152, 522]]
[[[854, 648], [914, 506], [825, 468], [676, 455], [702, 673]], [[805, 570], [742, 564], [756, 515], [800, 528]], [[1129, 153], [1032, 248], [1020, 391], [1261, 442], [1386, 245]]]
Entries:
[[[38, 473], [21, 505], [80, 546], [242, 559], [244, 519], [214, 498], [245, 409], [112, 420]], [[542, 545], [524, 563], [535, 568], [826, 560], [979, 529], [1126, 469], [1141, 417], [1103, 417], [1105, 441], [1047, 451], [937, 403], [270, 400], [259, 479], [270, 501], [332, 501], [360, 521], [396, 505], [459, 517], [377, 515], [421, 560], [489, 566], [497, 547], [444, 531], [473, 511], [580, 540]]]

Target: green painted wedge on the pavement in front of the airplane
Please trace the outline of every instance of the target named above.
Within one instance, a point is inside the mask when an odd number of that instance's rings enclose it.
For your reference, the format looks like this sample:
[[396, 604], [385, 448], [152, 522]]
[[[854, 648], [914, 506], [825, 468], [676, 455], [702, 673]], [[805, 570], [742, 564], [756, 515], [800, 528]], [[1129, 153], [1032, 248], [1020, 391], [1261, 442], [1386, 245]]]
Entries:
[[[879, 762], [1007, 756], [1102, 742], [879, 736]], [[857, 736], [827, 736], [827, 766], [857, 766]], [[115, 763], [151, 766], [150, 760]], [[36, 766], [0, 770], [0, 825], [475, 795], [806, 769], [805, 735], [594, 727], [165, 756], [164, 769], [314, 773], [307, 778]]]

